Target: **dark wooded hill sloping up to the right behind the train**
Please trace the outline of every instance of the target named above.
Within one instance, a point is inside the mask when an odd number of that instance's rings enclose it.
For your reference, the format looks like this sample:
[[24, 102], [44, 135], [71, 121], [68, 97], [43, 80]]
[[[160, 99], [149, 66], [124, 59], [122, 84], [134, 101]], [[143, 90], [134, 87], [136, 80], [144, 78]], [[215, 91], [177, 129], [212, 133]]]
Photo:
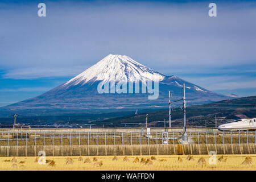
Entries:
[[[183, 110], [174, 108], [171, 111], [172, 127], [183, 127]], [[164, 119], [168, 127], [168, 110], [149, 111], [123, 117], [106, 119], [97, 122], [98, 126], [124, 126], [121, 123], [145, 123], [148, 114], [148, 126], [163, 127]], [[230, 122], [239, 118], [256, 117], [256, 96], [242, 97], [235, 100], [224, 100], [204, 105], [193, 105], [187, 107], [187, 126], [214, 127], [215, 115], [217, 124]], [[160, 121], [160, 122], [159, 122]], [[207, 121], [207, 122], [205, 122]], [[132, 126], [132, 125], [127, 125]], [[138, 125], [139, 126], [139, 125]]]

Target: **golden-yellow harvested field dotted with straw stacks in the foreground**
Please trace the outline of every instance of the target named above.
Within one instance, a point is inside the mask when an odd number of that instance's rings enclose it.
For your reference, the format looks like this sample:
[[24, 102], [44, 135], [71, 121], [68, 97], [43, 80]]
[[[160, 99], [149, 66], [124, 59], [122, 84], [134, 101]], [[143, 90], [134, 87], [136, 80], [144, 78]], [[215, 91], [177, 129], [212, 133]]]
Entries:
[[[141, 163], [141, 159], [148, 159], [151, 156], [127, 156], [129, 161], [123, 161], [125, 156], [96, 156], [97, 162], [102, 161], [102, 166], [97, 166], [93, 162], [93, 156], [70, 156], [69, 164], [68, 157], [63, 156], [49, 156], [46, 157], [46, 164], [39, 164], [35, 162], [36, 157], [0, 157], [0, 170], [146, 170], [146, 171], [164, 171], [164, 170], [256, 170], [256, 155], [223, 155], [224, 161], [220, 162], [217, 155], [217, 164], [210, 165], [208, 162], [209, 155], [193, 155], [192, 160], [187, 160], [187, 155], [160, 155], [154, 156], [148, 163]], [[242, 164], [246, 156], [251, 158], [251, 164]], [[139, 162], [134, 163], [134, 159], [138, 157]], [[179, 162], [178, 161], [178, 158]], [[199, 164], [199, 159], [203, 157], [206, 164]], [[80, 158], [80, 161], [79, 161]], [[90, 163], [84, 163], [85, 159], [89, 158]], [[52, 166], [51, 160], [54, 160]], [[88, 160], [88, 159], [87, 159]], [[162, 161], [161, 161], [162, 160]], [[181, 162], [182, 160], [182, 162]]]

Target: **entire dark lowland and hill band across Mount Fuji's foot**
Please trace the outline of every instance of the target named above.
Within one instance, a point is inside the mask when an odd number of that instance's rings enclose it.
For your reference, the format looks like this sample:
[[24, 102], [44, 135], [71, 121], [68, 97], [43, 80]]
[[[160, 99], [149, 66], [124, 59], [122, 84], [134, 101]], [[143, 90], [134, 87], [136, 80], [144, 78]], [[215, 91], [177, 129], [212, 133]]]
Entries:
[[[178, 103], [182, 104], [182, 101]], [[146, 114], [148, 114], [148, 126], [163, 127], [164, 119], [168, 127], [168, 110], [138, 110], [138, 114], [134, 111], [113, 113], [97, 113], [86, 114], [84, 110], [76, 111], [76, 114], [69, 111], [65, 114], [53, 110], [48, 116], [35, 115], [24, 116], [20, 115], [17, 118], [17, 123], [27, 123], [30, 125], [42, 124], [93, 124], [93, 126], [102, 127], [124, 127], [124, 126], [144, 126]], [[172, 127], [183, 127], [183, 111], [180, 107], [172, 108]], [[14, 113], [15, 114], [15, 113]], [[55, 114], [54, 116], [51, 116]], [[256, 96], [242, 97], [235, 100], [224, 100], [204, 105], [193, 105], [187, 107], [187, 125], [204, 127], [207, 121], [208, 127], [214, 127], [215, 115], [218, 125], [220, 123], [230, 122], [238, 118], [253, 118], [256, 117]], [[13, 124], [13, 117], [2, 117], [0, 123]], [[160, 121], [160, 122], [159, 122]], [[124, 125], [125, 123], [142, 123], [141, 125]]]

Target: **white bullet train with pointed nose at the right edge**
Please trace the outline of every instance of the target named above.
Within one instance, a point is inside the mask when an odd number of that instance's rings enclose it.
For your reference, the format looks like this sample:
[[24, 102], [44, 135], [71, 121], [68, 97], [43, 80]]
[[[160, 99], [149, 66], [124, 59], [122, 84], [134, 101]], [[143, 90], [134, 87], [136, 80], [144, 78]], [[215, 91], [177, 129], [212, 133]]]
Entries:
[[232, 123], [226, 123], [218, 126], [220, 131], [243, 131], [243, 130], [256, 130], [256, 118], [251, 119], [238, 119]]

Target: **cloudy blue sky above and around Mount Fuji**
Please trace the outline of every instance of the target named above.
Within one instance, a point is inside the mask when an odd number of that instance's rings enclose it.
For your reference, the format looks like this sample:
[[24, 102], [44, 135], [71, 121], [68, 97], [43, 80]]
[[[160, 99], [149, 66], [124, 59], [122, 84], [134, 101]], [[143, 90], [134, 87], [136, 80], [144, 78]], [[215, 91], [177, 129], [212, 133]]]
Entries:
[[[208, 16], [210, 2], [217, 17]], [[1, 1], [0, 106], [38, 96], [109, 53], [214, 92], [256, 95], [255, 18], [254, 1]]]

